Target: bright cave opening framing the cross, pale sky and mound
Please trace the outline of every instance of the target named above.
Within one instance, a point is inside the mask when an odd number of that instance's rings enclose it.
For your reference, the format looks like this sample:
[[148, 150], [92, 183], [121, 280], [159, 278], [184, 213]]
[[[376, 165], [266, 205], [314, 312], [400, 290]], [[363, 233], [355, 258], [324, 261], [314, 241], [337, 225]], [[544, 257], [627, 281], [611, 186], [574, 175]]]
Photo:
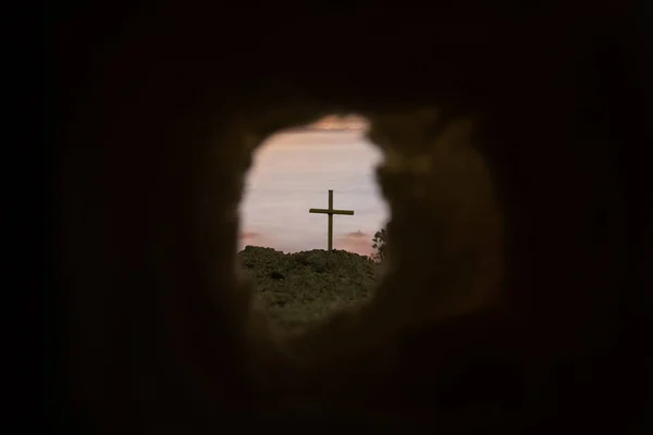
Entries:
[[328, 114], [281, 128], [252, 151], [239, 207], [238, 257], [268, 314], [303, 326], [368, 299], [374, 237], [389, 220], [369, 121]]

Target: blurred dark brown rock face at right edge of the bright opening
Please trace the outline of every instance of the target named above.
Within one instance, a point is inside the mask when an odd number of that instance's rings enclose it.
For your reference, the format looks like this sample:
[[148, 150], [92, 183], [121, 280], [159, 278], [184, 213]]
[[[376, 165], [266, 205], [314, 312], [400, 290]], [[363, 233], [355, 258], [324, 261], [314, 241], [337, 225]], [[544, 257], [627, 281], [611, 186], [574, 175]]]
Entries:
[[502, 219], [473, 123], [430, 108], [372, 117], [369, 136], [386, 154], [378, 179], [392, 211], [390, 270], [433, 283], [429, 304], [449, 315], [496, 297]]

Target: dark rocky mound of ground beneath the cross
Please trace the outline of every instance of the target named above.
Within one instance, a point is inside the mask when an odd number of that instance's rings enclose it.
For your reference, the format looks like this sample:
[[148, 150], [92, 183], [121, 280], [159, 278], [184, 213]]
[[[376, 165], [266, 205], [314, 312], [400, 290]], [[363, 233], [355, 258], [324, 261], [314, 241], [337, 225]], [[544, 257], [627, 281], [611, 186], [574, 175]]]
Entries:
[[283, 253], [247, 246], [238, 258], [270, 315], [289, 327], [364, 301], [380, 273], [379, 264], [368, 257], [342, 250]]

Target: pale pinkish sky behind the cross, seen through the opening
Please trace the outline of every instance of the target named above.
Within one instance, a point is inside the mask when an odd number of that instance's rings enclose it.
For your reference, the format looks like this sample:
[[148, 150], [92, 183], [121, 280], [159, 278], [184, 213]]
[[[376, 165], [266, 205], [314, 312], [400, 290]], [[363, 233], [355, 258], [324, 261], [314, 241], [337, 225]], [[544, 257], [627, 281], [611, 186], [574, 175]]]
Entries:
[[[387, 210], [374, 178], [381, 151], [365, 138], [359, 116], [329, 116], [315, 130], [280, 132], [254, 156], [241, 204], [241, 244], [284, 252], [326, 249], [328, 216], [309, 213], [328, 207], [334, 190], [333, 247], [372, 253], [372, 238], [385, 224]], [[349, 127], [345, 130], [333, 128]]]

